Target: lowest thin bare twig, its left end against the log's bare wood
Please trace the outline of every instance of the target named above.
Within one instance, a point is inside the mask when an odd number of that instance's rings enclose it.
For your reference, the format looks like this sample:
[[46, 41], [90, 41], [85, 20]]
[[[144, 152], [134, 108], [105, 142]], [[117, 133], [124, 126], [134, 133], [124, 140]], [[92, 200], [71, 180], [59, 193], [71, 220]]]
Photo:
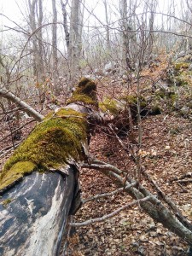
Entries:
[[134, 205], [137, 205], [140, 202], [148, 201], [148, 200], [150, 200], [150, 198], [151, 198], [150, 196], [147, 196], [147, 197], [144, 197], [143, 199], [139, 199], [137, 201], [133, 201], [133, 202], [131, 202], [131, 203], [129, 203], [129, 204], [123, 206], [123, 207], [119, 207], [119, 209], [115, 210], [114, 212], [111, 212], [109, 214], [106, 214], [106, 215], [102, 216], [101, 218], [91, 218], [91, 219], [86, 220], [86, 221], [81, 222], [81, 223], [79, 223], [79, 222], [77, 222], [77, 223], [70, 223], [70, 225], [73, 226], [73, 227], [81, 227], [81, 226], [86, 226], [86, 225], [89, 225], [89, 224], [94, 224], [94, 223], [102, 222], [102, 221], [104, 221], [104, 220], [106, 220], [108, 218], [112, 218], [113, 216], [117, 215], [119, 212], [121, 212], [121, 211], [123, 211], [123, 210], [125, 210], [127, 208], [130, 208], [130, 207], [132, 207]]

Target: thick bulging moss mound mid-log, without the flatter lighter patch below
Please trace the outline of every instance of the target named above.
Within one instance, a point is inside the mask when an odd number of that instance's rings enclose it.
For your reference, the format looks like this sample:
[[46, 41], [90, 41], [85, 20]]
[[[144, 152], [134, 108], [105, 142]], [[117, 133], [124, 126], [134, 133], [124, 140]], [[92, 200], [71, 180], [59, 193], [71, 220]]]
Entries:
[[37, 125], [30, 137], [15, 150], [4, 170], [22, 160], [49, 168], [65, 163], [69, 156], [78, 159], [80, 142], [86, 137], [86, 122], [82, 117], [83, 114], [73, 109], [63, 109]]

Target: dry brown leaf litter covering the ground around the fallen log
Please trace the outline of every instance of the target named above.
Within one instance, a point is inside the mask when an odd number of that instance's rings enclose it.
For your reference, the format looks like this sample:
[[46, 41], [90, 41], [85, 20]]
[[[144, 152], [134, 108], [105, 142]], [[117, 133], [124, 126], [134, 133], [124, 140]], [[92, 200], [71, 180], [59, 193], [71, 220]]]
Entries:
[[[103, 87], [99, 83], [98, 96], [119, 96], [125, 93], [125, 84], [113, 82], [108, 79], [102, 82], [110, 83]], [[117, 85], [117, 86], [116, 86]], [[27, 119], [29, 121], [30, 119]], [[8, 152], [12, 145], [9, 135], [9, 122], [0, 120], [0, 168], [13, 150]], [[26, 120], [21, 121], [26, 122]], [[20, 138], [27, 136], [34, 123], [22, 130]], [[176, 111], [163, 112], [159, 115], [148, 115], [142, 120], [143, 154], [142, 165], [146, 172], [160, 186], [160, 189], [176, 202], [179, 209], [189, 221], [192, 221], [192, 182], [178, 183], [177, 179], [183, 178], [187, 173], [192, 174], [192, 124], [191, 119]], [[137, 125], [134, 126], [137, 139]], [[1, 138], [2, 137], [2, 138]], [[122, 137], [125, 145], [127, 137]], [[15, 141], [16, 143], [17, 141]], [[98, 128], [90, 141], [90, 154], [96, 159], [118, 166], [127, 172], [129, 177], [134, 177], [136, 167], [128, 154], [116, 141], [115, 137], [108, 136]], [[187, 177], [186, 177], [187, 178]], [[184, 178], [184, 179], [186, 179]], [[141, 182], [152, 193], [148, 180], [142, 177]], [[100, 172], [82, 169], [80, 171], [82, 197], [89, 198], [116, 189], [108, 177]], [[90, 201], [77, 212], [74, 221], [83, 222], [89, 218], [98, 218], [115, 209], [131, 202], [132, 199], [125, 193], [113, 195], [108, 199]], [[185, 241], [166, 230], [162, 224], [154, 223], [152, 218], [143, 212], [139, 206], [131, 207], [105, 222], [80, 227], [76, 235], [70, 239], [70, 255], [105, 256], [105, 255], [187, 255], [188, 245]]]

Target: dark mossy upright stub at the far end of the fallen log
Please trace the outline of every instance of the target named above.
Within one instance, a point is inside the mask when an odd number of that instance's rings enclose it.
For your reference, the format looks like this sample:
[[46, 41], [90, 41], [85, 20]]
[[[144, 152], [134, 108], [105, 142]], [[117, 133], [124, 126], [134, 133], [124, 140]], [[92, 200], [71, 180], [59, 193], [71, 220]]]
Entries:
[[67, 101], [67, 104], [73, 102], [83, 102], [85, 105], [93, 105], [97, 108], [96, 84], [90, 79], [81, 79], [73, 91], [73, 95]]

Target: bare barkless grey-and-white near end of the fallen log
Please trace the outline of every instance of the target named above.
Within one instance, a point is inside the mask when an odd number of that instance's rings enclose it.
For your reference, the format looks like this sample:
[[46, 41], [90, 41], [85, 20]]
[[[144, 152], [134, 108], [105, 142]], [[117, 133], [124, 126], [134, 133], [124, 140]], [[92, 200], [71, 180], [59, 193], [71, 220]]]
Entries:
[[74, 169], [68, 175], [33, 172], [1, 197], [0, 254], [59, 255], [73, 201]]

